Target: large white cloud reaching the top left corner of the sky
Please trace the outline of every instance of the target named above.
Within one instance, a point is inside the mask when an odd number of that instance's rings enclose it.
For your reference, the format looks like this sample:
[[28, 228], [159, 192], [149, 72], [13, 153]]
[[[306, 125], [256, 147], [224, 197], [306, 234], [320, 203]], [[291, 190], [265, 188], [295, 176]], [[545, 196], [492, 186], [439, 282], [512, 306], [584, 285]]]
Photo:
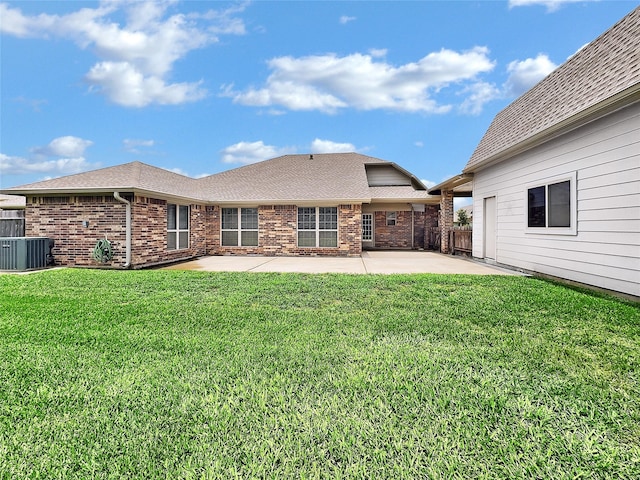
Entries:
[[[20, 38], [59, 37], [91, 49], [102, 61], [86, 75], [92, 91], [127, 107], [152, 103], [174, 105], [202, 99], [198, 82], [167, 83], [174, 63], [191, 50], [215, 43], [219, 35], [242, 35], [244, 23], [235, 15], [245, 4], [205, 14], [174, 14], [174, 2], [103, 1], [66, 15], [25, 15], [0, 4], [3, 33]], [[124, 13], [126, 23], [114, 19]]]

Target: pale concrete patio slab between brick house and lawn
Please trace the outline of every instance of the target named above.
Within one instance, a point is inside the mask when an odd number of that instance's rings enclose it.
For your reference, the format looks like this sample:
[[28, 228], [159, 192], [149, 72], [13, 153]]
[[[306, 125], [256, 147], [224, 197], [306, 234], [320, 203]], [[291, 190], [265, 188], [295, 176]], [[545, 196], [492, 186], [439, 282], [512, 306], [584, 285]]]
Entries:
[[464, 257], [429, 251], [366, 251], [360, 257], [211, 256], [163, 269], [209, 272], [518, 274]]

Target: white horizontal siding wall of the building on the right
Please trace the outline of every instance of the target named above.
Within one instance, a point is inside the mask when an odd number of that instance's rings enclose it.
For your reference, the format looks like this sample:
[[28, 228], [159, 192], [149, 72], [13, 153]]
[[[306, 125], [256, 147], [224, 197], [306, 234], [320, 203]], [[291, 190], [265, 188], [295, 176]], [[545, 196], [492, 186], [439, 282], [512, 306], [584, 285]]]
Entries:
[[[527, 231], [527, 188], [574, 172], [576, 235]], [[640, 296], [640, 103], [476, 172], [475, 257], [494, 195], [498, 263]]]

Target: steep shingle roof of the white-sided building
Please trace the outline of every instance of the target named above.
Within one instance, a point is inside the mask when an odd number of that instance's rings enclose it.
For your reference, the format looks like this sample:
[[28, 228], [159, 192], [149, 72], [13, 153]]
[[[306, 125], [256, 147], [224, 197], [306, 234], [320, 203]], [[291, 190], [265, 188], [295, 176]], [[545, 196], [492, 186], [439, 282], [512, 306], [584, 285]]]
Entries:
[[502, 110], [464, 171], [640, 82], [640, 7]]

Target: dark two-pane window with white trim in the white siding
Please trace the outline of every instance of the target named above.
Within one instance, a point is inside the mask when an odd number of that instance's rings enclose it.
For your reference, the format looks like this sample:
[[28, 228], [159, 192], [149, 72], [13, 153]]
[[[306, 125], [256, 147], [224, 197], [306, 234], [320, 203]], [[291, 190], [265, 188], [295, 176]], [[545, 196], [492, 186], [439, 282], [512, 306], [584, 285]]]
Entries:
[[575, 174], [527, 189], [527, 227], [531, 232], [575, 234]]

